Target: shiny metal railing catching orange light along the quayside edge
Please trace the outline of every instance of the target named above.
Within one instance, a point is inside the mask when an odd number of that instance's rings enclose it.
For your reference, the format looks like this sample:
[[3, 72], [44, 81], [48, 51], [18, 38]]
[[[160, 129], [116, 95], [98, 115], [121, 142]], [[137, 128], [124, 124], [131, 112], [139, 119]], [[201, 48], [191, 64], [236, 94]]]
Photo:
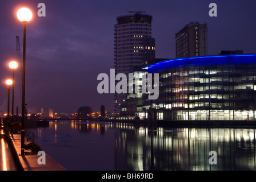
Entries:
[[0, 123], [0, 171], [23, 171], [9, 131]]

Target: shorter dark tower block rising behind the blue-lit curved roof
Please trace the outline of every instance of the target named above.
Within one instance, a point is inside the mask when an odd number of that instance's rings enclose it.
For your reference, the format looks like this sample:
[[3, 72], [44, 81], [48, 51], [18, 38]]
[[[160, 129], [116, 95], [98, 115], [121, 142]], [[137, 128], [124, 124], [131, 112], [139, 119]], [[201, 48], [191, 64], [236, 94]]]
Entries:
[[191, 22], [175, 34], [176, 57], [207, 56], [207, 24]]

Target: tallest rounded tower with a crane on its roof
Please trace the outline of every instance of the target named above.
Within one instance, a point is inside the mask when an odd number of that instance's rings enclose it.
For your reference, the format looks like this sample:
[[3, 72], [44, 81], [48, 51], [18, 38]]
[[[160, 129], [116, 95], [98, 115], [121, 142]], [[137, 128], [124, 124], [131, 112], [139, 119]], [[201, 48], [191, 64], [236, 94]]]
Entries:
[[[142, 11], [129, 13], [135, 14], [118, 16], [114, 26], [115, 75], [133, 73], [155, 59], [155, 39], [151, 37], [152, 16], [142, 14]], [[125, 114], [127, 94], [115, 93], [114, 100], [115, 113]]]

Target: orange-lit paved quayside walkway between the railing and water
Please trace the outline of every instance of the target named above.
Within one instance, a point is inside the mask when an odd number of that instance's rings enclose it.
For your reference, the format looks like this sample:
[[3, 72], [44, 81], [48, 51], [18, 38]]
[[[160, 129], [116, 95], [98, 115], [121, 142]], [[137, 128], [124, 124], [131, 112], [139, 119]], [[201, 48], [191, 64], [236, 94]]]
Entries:
[[[30, 150], [25, 150], [25, 155], [21, 156], [21, 134], [14, 134], [13, 138], [14, 147], [19, 156], [19, 160], [25, 171], [66, 171], [61, 165], [53, 160], [49, 155], [46, 154], [46, 164], [38, 164], [37, 160], [39, 155], [32, 153]], [[27, 140], [25, 138], [25, 143]]]

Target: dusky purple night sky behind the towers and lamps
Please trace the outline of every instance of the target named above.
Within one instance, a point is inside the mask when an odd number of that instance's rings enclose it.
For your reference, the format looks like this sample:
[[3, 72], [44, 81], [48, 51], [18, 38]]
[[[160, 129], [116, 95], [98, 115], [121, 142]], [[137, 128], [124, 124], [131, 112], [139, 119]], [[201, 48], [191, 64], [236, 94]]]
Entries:
[[[45, 3], [46, 16], [38, 17], [38, 3]], [[209, 4], [218, 16], [209, 16]], [[156, 58], [175, 58], [175, 33], [189, 22], [207, 23], [208, 54], [242, 49], [256, 53], [255, 0], [10, 0], [0, 5], [0, 111], [7, 110], [5, 80], [12, 77], [10, 60], [17, 60], [16, 36], [23, 47], [23, 23], [19, 7], [33, 11], [27, 23], [26, 104], [32, 113], [42, 106], [75, 112], [80, 106], [94, 111], [105, 105], [114, 109], [113, 94], [98, 94], [99, 73], [114, 68], [114, 24], [119, 15], [146, 11], [153, 16], [152, 36]], [[15, 72], [15, 104], [21, 112], [21, 66]]]

